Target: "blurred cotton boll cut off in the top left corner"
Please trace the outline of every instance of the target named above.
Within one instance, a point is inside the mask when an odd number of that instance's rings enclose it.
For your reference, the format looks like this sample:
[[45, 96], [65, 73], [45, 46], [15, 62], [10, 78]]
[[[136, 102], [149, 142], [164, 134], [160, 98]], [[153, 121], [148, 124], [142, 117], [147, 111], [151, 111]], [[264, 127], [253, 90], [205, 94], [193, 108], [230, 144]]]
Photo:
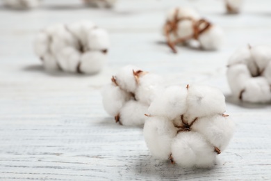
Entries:
[[31, 9], [40, 6], [40, 0], [3, 0], [3, 5], [13, 9]]

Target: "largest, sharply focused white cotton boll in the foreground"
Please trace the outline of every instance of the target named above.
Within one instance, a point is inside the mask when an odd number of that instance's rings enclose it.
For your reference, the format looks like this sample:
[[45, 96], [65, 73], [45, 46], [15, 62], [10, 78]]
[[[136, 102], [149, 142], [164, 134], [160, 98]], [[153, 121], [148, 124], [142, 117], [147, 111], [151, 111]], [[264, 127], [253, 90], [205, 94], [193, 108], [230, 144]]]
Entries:
[[151, 155], [182, 167], [208, 168], [235, 130], [225, 97], [209, 86], [171, 86], [151, 102], [143, 134]]

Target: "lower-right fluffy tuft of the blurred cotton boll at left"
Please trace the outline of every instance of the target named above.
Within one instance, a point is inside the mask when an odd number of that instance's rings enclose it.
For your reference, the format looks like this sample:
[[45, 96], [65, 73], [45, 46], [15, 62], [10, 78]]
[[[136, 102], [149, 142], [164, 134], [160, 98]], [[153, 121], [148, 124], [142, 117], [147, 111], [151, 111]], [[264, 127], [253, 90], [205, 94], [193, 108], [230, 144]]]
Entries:
[[87, 52], [81, 56], [79, 72], [95, 74], [101, 71], [106, 63], [106, 54], [103, 52]]

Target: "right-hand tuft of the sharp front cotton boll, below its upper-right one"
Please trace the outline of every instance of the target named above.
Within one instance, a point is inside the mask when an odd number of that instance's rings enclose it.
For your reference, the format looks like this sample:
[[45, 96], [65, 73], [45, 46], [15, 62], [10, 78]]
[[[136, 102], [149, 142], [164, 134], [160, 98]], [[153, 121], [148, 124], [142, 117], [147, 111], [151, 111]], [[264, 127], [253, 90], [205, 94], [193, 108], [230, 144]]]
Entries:
[[197, 119], [191, 128], [223, 151], [233, 136], [235, 124], [229, 117], [215, 115]]

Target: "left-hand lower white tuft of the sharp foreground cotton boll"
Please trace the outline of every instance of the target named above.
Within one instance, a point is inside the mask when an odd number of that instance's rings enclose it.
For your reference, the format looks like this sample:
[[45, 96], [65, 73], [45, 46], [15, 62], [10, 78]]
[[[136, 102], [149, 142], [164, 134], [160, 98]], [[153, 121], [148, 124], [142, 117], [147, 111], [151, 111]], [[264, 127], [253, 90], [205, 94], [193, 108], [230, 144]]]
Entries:
[[176, 136], [176, 127], [163, 117], [148, 117], [143, 135], [153, 157], [166, 160], [170, 157], [171, 143]]

